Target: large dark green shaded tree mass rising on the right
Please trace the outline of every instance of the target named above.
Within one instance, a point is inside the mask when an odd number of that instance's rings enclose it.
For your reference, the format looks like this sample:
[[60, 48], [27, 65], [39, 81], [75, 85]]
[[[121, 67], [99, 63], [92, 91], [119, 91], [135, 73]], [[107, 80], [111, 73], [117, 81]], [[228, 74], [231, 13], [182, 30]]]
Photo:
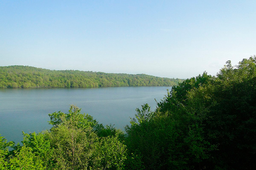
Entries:
[[[256, 168], [256, 56], [183, 81], [126, 126], [146, 169]], [[145, 112], [146, 111], [146, 112]], [[147, 117], [145, 119], [145, 117]]]

